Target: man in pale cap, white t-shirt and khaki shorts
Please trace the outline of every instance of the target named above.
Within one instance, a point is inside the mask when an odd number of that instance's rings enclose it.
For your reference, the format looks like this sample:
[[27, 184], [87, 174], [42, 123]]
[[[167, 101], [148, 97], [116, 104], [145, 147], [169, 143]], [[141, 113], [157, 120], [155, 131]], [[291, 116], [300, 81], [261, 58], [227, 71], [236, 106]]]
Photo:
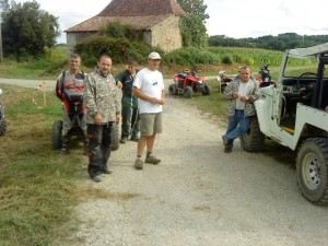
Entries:
[[137, 149], [136, 169], [143, 168], [142, 153], [147, 147], [144, 162], [159, 164], [152, 152], [155, 137], [162, 133], [162, 105], [165, 103], [165, 91], [163, 75], [157, 71], [161, 63], [161, 56], [151, 52], [148, 57], [148, 67], [140, 70], [133, 81], [133, 95], [138, 97], [140, 114], [140, 139]]

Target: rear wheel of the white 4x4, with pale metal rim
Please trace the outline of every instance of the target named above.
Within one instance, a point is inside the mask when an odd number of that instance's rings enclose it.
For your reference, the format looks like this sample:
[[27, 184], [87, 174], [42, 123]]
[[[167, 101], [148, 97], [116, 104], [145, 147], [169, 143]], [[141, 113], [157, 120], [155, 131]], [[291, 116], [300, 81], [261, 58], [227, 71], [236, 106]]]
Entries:
[[328, 139], [304, 141], [297, 153], [296, 176], [298, 188], [307, 200], [328, 206]]

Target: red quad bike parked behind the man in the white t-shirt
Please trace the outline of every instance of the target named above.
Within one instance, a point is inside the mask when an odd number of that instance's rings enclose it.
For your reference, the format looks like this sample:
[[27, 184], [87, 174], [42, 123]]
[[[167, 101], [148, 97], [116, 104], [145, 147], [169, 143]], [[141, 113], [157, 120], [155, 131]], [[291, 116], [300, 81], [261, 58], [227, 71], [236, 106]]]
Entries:
[[168, 86], [169, 95], [183, 94], [186, 98], [191, 98], [194, 93], [211, 94], [211, 87], [204, 82], [203, 77], [199, 77], [196, 71], [189, 69], [174, 75], [174, 84]]

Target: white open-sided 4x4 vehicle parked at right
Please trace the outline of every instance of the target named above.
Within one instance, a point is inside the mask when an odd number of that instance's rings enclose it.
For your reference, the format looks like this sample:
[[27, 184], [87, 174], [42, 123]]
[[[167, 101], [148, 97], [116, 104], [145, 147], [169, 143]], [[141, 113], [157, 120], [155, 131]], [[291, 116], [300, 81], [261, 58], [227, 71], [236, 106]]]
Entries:
[[328, 43], [286, 50], [277, 84], [260, 89], [257, 117], [241, 138], [246, 151], [260, 151], [266, 137], [297, 151], [300, 190], [321, 206], [328, 206], [327, 68]]

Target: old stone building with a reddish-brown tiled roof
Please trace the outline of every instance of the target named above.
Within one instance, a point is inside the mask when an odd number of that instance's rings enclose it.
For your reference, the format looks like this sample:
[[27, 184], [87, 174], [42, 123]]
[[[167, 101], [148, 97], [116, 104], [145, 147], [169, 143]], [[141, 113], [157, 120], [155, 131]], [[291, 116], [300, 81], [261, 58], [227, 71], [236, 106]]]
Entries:
[[151, 46], [160, 46], [165, 51], [181, 47], [179, 19], [186, 12], [176, 0], [112, 0], [97, 15], [67, 31], [69, 52], [83, 38], [98, 33], [109, 22], [120, 22], [141, 32]]

